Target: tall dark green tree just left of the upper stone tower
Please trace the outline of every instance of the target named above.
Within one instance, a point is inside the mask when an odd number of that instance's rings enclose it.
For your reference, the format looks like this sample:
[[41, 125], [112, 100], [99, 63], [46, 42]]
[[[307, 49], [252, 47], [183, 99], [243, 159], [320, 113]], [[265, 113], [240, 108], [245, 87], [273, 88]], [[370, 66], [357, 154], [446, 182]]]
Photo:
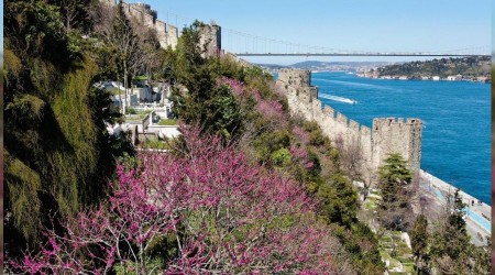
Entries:
[[235, 136], [242, 128], [239, 103], [227, 85], [217, 85], [216, 74], [201, 56], [202, 26], [196, 21], [179, 38], [173, 70], [186, 89], [175, 87], [174, 110], [179, 119], [200, 125], [204, 132]]

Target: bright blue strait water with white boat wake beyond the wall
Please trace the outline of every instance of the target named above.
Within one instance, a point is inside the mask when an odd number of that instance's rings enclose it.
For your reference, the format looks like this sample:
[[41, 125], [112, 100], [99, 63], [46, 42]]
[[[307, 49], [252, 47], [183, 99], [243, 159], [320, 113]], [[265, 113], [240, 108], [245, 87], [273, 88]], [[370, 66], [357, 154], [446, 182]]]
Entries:
[[314, 73], [319, 99], [361, 124], [373, 118], [424, 122], [421, 168], [491, 205], [488, 84], [385, 80]]

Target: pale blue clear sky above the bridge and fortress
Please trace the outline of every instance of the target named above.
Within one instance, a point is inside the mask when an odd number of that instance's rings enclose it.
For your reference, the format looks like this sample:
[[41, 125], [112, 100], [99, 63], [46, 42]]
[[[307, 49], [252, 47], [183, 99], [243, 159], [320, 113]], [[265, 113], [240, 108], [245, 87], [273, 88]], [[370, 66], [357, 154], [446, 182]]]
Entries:
[[[492, 44], [490, 0], [145, 2], [157, 10], [160, 19], [178, 26], [190, 24], [194, 19], [215, 20], [223, 29], [224, 47], [229, 44], [228, 30], [349, 51], [441, 52]], [[242, 44], [240, 36], [231, 37], [231, 44]], [[288, 61], [287, 57], [265, 59]]]

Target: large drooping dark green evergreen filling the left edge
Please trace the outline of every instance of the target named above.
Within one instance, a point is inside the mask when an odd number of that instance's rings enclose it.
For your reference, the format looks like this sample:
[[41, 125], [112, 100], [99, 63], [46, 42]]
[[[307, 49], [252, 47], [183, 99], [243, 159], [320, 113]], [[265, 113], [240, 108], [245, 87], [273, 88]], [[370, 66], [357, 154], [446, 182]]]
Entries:
[[117, 50], [94, 31], [97, 7], [89, 0], [6, 2], [4, 240], [11, 255], [36, 248], [41, 226], [99, 202], [116, 158], [133, 154], [125, 139], [107, 133], [106, 123], [121, 114], [94, 86], [119, 73], [105, 64]]

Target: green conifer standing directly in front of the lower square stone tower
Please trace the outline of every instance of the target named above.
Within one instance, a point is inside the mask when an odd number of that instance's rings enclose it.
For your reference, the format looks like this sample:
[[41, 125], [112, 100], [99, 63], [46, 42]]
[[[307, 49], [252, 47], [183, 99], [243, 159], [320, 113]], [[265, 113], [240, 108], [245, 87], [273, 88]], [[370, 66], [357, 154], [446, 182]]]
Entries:
[[387, 229], [402, 230], [407, 226], [405, 213], [409, 207], [405, 186], [413, 179], [407, 162], [400, 154], [391, 154], [378, 173], [382, 189], [378, 220]]

